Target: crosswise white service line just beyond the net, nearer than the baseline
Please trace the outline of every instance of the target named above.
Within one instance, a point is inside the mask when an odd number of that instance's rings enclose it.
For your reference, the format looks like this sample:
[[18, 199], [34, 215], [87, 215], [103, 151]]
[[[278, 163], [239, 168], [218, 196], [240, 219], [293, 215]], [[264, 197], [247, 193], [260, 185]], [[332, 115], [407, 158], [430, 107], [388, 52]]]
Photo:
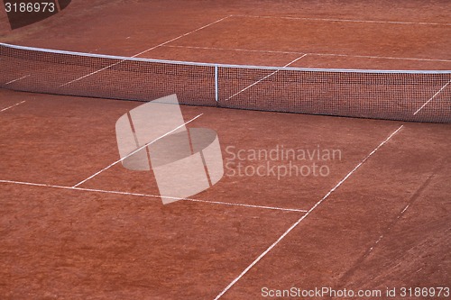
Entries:
[[440, 61], [451, 62], [451, 59], [418, 59], [418, 58], [397, 58], [391, 56], [374, 56], [374, 55], [352, 55], [352, 54], [337, 54], [337, 53], [314, 53], [314, 52], [299, 52], [299, 51], [279, 51], [279, 50], [252, 50], [241, 48], [220, 48], [220, 47], [197, 47], [197, 46], [177, 46], [167, 45], [164, 47], [170, 48], [187, 48], [187, 49], [202, 49], [202, 50], [231, 50], [231, 51], [244, 51], [244, 52], [262, 52], [262, 53], [281, 53], [281, 54], [307, 54], [318, 56], [340, 56], [349, 58], [361, 58], [361, 59], [400, 59], [400, 60], [418, 60], [418, 61]]

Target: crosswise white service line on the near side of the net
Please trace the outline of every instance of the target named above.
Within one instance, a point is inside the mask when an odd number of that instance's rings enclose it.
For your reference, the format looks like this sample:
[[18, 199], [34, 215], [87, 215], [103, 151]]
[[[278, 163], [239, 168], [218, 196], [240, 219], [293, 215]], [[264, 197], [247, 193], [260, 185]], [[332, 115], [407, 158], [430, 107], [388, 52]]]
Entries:
[[[128, 192], [121, 192], [121, 191], [109, 191], [109, 190], [97, 189], [97, 188], [46, 185], [46, 184], [38, 184], [38, 183], [14, 181], [14, 180], [0, 180], [0, 183], [23, 185], [23, 186], [42, 186], [42, 187], [69, 189], [69, 190], [92, 192], [92, 193], [104, 193], [104, 194], [115, 194], [115, 195], [133, 195], [133, 196], [148, 197], [148, 198], [158, 198], [158, 199], [161, 198], [160, 195], [128, 193]], [[201, 199], [193, 199], [193, 198], [179, 198], [179, 197], [170, 197], [170, 196], [165, 196], [165, 197], [166, 198], [175, 199], [175, 200], [207, 203], [207, 204], [212, 204], [212, 205], [242, 206], [242, 207], [248, 207], [248, 208], [270, 209], [270, 210], [275, 210], [275, 211], [307, 213], [307, 210], [297, 209], [297, 208], [282, 208], [282, 207], [264, 206], [264, 205], [244, 205], [244, 204], [240, 204], [240, 203], [231, 203], [231, 202], [222, 202], [222, 201], [209, 201], [209, 200], [201, 200]]]

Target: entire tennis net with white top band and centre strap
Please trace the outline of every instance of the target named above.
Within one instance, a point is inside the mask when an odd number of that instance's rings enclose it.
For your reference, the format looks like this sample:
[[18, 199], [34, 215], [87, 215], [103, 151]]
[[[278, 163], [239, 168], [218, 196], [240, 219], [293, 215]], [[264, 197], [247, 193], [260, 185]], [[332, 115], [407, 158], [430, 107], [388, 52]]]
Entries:
[[57, 95], [451, 123], [451, 71], [273, 68], [122, 58], [0, 43], [0, 87]]

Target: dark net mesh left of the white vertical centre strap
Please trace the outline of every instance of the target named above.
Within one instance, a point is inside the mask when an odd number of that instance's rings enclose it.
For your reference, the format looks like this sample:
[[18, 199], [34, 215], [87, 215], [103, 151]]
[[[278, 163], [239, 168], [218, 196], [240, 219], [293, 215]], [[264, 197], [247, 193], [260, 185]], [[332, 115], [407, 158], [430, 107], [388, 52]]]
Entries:
[[216, 105], [212, 66], [0, 45], [0, 67], [0, 87], [19, 91], [139, 101], [177, 94], [183, 104]]

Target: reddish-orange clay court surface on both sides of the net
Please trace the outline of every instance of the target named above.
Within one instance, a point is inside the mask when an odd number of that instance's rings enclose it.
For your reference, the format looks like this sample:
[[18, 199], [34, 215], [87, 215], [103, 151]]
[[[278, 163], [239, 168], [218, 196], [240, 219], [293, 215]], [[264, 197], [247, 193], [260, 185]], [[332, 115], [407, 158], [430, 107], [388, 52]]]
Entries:
[[[449, 70], [449, 12], [445, 1], [74, 1], [14, 32], [0, 14], [0, 37], [154, 59]], [[449, 298], [400, 291], [451, 287], [450, 124], [182, 106], [187, 121], [202, 114], [190, 127], [217, 132], [224, 159], [226, 147], [278, 146], [341, 159], [302, 161], [327, 165], [325, 177], [226, 175], [170, 205], [152, 173], [120, 165], [72, 187], [119, 158], [115, 122], [138, 105], [0, 90], [0, 298], [260, 299], [293, 286]]]

